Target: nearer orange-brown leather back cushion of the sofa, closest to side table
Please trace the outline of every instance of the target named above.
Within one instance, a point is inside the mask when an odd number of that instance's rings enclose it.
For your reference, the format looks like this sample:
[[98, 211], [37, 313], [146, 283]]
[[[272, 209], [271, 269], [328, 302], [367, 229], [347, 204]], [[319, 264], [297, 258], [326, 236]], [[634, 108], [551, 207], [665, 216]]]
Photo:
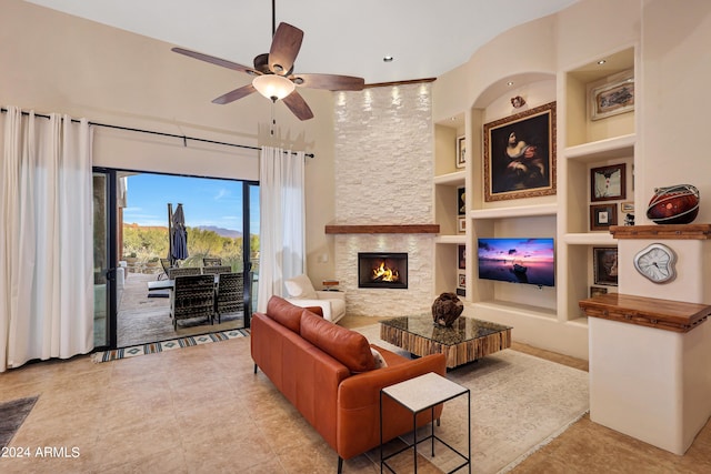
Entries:
[[375, 369], [375, 361], [364, 335], [336, 325], [308, 311], [301, 314], [301, 337], [346, 365], [351, 372]]

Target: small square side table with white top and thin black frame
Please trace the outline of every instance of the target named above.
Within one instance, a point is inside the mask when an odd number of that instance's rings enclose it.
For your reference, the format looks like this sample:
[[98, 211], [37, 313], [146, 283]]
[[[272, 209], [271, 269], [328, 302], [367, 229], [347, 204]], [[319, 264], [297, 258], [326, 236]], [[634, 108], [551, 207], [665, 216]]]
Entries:
[[[442, 438], [438, 437], [434, 434], [434, 407], [441, 403], [448, 402], [452, 399], [455, 399], [460, 395], [467, 394], [467, 433], [468, 433], [468, 452], [467, 455], [460, 453], [458, 450], [452, 447], [450, 444], [444, 442]], [[404, 406], [412, 413], [412, 444], [408, 444], [401, 450], [389, 454], [388, 456], [383, 456], [382, 451], [382, 401], [383, 396], [389, 396], [400, 405]], [[425, 411], [431, 411], [432, 420], [430, 422], [431, 433], [430, 435], [418, 440], [417, 432], [417, 417], [418, 414]], [[459, 385], [434, 372], [430, 372], [424, 375], [417, 376], [414, 379], [407, 380], [404, 382], [397, 383], [394, 385], [390, 385], [381, 389], [380, 391], [380, 472], [382, 473], [383, 466], [387, 467], [391, 473], [394, 473], [392, 467], [388, 465], [388, 460], [394, 457], [395, 455], [412, 448], [413, 460], [414, 460], [414, 472], [418, 472], [418, 444], [423, 441], [431, 440], [431, 450], [432, 456], [434, 456], [434, 440], [438, 440], [444, 446], [449, 447], [452, 452], [458, 454], [463, 463], [458, 465], [455, 468], [450, 471], [453, 473], [455, 471], [461, 470], [464, 466], [469, 466], [469, 472], [471, 473], [471, 392], [469, 389]]]

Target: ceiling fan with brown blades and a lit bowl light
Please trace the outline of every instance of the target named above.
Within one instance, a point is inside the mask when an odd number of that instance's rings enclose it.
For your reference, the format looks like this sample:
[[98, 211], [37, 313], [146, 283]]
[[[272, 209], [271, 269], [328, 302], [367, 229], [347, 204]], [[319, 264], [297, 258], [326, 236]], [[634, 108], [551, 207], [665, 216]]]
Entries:
[[364, 80], [362, 78], [338, 74], [294, 73], [293, 63], [301, 49], [303, 31], [283, 22], [279, 23], [279, 28], [274, 30], [273, 3], [272, 1], [271, 49], [268, 53], [259, 54], [254, 58], [253, 68], [183, 48], [172, 49], [172, 51], [177, 53], [234, 71], [247, 72], [254, 77], [250, 84], [220, 95], [212, 101], [213, 103], [230, 103], [257, 91], [266, 98], [271, 99], [272, 102], [282, 100], [299, 120], [309, 120], [313, 118], [313, 112], [301, 94], [299, 94], [297, 87], [326, 89], [330, 91], [360, 91], [363, 89]]

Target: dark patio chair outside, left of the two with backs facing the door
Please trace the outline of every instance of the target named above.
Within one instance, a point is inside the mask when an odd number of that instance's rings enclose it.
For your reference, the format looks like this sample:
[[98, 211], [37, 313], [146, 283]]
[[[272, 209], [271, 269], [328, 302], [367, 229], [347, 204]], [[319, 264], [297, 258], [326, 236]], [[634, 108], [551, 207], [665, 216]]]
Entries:
[[207, 317], [214, 322], [214, 278], [212, 275], [176, 276], [176, 288], [170, 299], [173, 330], [178, 320]]

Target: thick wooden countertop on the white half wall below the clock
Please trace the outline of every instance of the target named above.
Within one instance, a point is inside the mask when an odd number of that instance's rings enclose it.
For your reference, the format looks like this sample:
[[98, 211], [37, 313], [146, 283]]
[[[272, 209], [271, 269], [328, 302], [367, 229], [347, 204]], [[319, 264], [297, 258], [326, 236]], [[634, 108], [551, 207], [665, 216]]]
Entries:
[[618, 321], [665, 331], [685, 333], [711, 315], [711, 305], [634, 296], [600, 294], [579, 302], [589, 317]]

